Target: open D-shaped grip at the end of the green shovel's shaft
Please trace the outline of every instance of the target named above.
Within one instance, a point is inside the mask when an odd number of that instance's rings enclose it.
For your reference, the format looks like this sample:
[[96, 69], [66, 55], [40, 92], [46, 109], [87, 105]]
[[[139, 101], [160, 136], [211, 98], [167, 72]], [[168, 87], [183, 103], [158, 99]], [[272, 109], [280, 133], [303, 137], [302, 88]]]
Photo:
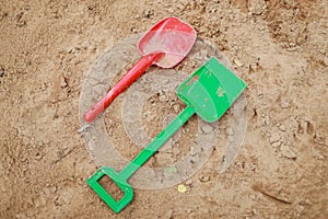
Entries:
[[[112, 181], [125, 193], [119, 200], [115, 200], [98, 183], [105, 175], [112, 178]], [[127, 180], [122, 178], [119, 173], [109, 166], [99, 168], [96, 173], [87, 178], [86, 183], [115, 212], [121, 211], [133, 198], [133, 189], [127, 183]]]

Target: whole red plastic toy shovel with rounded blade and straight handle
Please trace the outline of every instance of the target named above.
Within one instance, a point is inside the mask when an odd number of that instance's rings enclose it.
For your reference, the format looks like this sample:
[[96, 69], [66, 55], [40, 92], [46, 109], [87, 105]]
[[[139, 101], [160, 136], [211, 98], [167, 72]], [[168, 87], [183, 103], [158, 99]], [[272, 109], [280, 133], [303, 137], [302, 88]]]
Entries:
[[142, 58], [99, 102], [83, 115], [83, 119], [91, 123], [150, 66], [173, 68], [178, 65], [188, 55], [195, 41], [196, 31], [177, 18], [166, 18], [156, 23], [138, 43], [137, 48]]

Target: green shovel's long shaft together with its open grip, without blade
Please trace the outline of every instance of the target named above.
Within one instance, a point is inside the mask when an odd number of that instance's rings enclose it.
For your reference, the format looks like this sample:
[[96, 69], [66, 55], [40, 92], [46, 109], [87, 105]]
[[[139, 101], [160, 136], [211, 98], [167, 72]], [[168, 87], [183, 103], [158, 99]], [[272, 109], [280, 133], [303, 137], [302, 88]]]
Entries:
[[[138, 169], [140, 169], [192, 115], [195, 108], [187, 106], [168, 126], [160, 132], [126, 168], [116, 172], [109, 166], [102, 166], [86, 183], [96, 194], [115, 211], [121, 211], [133, 198], [133, 189], [127, 182]], [[98, 183], [104, 176], [109, 176], [113, 182], [124, 191], [125, 195], [115, 200]]]

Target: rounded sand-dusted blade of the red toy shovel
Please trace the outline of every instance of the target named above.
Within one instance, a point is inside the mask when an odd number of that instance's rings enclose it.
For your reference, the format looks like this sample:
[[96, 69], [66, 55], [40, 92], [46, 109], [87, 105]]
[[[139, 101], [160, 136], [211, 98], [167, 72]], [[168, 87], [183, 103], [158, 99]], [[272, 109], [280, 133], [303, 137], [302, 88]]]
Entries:
[[173, 68], [188, 55], [196, 36], [196, 31], [189, 24], [177, 18], [166, 18], [148, 31], [137, 47], [142, 56], [154, 51], [165, 53], [165, 56], [153, 65]]

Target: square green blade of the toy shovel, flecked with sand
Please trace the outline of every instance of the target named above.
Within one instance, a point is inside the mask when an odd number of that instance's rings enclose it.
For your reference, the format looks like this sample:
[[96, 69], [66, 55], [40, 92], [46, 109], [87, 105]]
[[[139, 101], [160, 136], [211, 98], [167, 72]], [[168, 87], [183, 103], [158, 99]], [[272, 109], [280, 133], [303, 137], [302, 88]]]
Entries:
[[245, 82], [212, 57], [177, 90], [177, 95], [206, 122], [218, 120], [246, 88]]

